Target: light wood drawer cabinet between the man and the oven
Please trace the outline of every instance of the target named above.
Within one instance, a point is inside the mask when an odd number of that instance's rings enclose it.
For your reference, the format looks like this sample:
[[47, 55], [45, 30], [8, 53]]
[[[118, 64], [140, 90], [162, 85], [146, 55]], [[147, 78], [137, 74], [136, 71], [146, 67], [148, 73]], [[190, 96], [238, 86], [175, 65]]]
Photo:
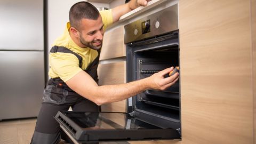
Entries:
[[[99, 85], [126, 83], [125, 45], [123, 26], [107, 30], [98, 67]], [[101, 111], [126, 111], [126, 100], [101, 106]]]

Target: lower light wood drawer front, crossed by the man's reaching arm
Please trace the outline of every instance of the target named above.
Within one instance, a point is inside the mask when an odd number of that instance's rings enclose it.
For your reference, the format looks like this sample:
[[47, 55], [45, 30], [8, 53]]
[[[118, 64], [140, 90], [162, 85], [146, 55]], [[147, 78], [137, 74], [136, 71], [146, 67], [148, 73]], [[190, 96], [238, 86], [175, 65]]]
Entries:
[[[126, 65], [124, 61], [99, 65], [99, 85], [123, 84], [126, 82]], [[102, 111], [126, 111], [126, 100], [102, 105]]]

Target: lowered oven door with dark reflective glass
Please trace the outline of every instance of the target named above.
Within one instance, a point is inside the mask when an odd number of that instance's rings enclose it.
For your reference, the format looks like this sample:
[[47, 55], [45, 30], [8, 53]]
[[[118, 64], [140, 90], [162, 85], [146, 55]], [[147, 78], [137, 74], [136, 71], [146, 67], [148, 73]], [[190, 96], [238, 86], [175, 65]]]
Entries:
[[174, 129], [162, 129], [126, 113], [59, 111], [54, 117], [77, 142], [180, 139]]

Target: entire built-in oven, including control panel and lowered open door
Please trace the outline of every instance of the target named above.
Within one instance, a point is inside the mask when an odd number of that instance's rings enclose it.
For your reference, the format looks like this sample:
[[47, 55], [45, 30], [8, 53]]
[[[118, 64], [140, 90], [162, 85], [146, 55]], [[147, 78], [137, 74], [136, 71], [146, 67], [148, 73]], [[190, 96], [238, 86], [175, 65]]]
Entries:
[[[127, 82], [179, 65], [178, 4], [124, 26]], [[166, 75], [167, 77], [168, 75]], [[181, 139], [180, 83], [127, 99], [127, 113], [59, 111], [73, 141]]]

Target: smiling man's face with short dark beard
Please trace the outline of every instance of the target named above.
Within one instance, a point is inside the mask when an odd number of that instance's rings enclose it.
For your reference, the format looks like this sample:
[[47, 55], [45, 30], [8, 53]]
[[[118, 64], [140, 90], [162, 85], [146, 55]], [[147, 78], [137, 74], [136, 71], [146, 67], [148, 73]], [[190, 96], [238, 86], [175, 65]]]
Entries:
[[102, 47], [103, 22], [101, 16], [97, 20], [82, 19], [79, 28], [79, 42], [84, 47], [99, 50]]

